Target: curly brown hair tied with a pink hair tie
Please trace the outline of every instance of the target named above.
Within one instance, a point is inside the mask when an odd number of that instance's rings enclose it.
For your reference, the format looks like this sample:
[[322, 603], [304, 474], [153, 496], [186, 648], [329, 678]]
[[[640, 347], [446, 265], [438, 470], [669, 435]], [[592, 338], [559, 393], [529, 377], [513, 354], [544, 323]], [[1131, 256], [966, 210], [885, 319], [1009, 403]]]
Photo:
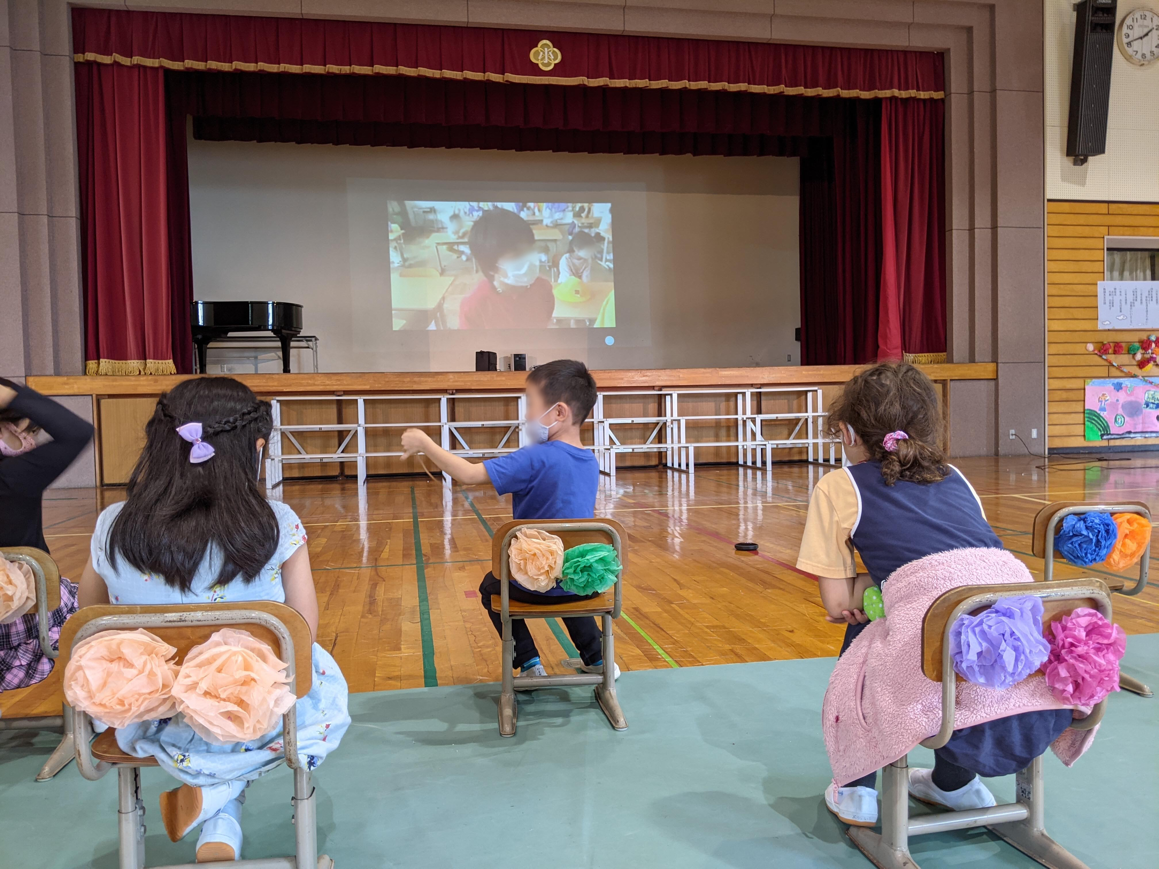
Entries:
[[[840, 423], [860, 436], [872, 461], [881, 462], [887, 485], [898, 480], [936, 483], [949, 474], [941, 446], [938, 392], [912, 365], [881, 363], [854, 375], [829, 406], [832, 437], [840, 437]], [[894, 431], [909, 437], [890, 452], [884, 439]]]

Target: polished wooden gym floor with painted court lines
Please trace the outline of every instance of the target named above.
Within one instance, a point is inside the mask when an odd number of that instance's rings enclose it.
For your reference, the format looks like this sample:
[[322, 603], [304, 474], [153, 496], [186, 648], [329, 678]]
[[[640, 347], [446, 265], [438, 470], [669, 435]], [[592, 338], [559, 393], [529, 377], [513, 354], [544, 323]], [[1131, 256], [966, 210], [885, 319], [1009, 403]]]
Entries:
[[[962, 459], [987, 518], [1032, 571], [1034, 513], [1050, 501], [1102, 496], [1142, 499], [1159, 511], [1159, 455], [1120, 461]], [[629, 535], [624, 619], [617, 660], [624, 670], [698, 666], [836, 655], [843, 628], [823, 621], [812, 577], [797, 571], [797, 545], [810, 488], [825, 468], [786, 465], [768, 474], [699, 467], [602, 479], [597, 514]], [[66, 576], [88, 555], [97, 512], [123, 489], [54, 490], [45, 534]], [[318, 642], [353, 692], [497, 681], [498, 638], [478, 586], [488, 570], [490, 534], [511, 518], [510, 498], [484, 487], [452, 490], [423, 477], [372, 479], [363, 497], [347, 481], [286, 483], [285, 501], [309, 534], [321, 604]], [[737, 554], [751, 540], [758, 554]], [[1152, 558], [1156, 561], [1156, 558]], [[1098, 574], [1062, 565], [1058, 578]], [[1159, 589], [1114, 598], [1129, 634], [1159, 631]], [[531, 622], [544, 664], [563, 672], [563, 626]], [[5, 717], [59, 710], [59, 673], [5, 694]]]

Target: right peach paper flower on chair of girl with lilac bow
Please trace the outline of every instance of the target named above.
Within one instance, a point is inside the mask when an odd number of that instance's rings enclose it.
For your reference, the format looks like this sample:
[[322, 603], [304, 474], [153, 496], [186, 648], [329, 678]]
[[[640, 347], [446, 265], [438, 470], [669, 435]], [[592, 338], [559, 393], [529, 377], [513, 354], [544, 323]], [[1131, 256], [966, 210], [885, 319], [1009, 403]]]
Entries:
[[285, 669], [267, 643], [248, 631], [223, 628], [189, 650], [173, 698], [206, 742], [248, 743], [274, 730], [293, 706]]

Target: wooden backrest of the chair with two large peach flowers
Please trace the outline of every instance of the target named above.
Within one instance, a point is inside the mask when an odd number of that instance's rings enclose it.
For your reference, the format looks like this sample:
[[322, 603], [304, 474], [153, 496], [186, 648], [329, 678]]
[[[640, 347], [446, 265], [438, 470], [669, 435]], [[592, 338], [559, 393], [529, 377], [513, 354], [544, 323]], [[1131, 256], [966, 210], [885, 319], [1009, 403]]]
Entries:
[[[262, 621], [248, 619], [241, 613], [261, 615]], [[293, 645], [294, 694], [299, 698], [309, 693], [313, 681], [312, 647], [309, 626], [297, 609], [272, 600], [250, 600], [235, 604], [173, 604], [167, 606], [87, 606], [65, 622], [60, 630], [60, 657], [57, 666], [68, 663], [73, 644], [82, 628], [93, 622], [96, 630], [136, 630], [145, 628], [177, 650], [177, 663], [195, 645], [204, 643], [210, 635], [221, 628], [246, 630], [257, 640], [269, 644], [274, 652], [287, 660], [277, 626], [285, 629]], [[95, 630], [92, 630], [95, 633]], [[85, 631], [92, 636], [90, 631]], [[289, 662], [287, 662], [289, 663]]]

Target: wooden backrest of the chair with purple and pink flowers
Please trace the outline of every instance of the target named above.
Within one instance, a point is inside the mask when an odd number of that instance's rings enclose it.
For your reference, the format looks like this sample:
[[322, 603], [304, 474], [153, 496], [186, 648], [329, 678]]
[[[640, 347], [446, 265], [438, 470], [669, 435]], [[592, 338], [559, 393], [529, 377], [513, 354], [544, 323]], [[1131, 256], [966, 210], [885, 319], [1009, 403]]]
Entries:
[[[1034, 594], [1042, 598], [1042, 629], [1044, 635], [1052, 621], [1060, 619], [1078, 607], [1098, 609], [1108, 619], [1110, 618], [1110, 591], [1101, 579], [1056, 579], [1049, 583], [960, 585], [939, 597], [926, 609], [926, 616], [921, 625], [921, 672], [925, 673], [927, 679], [932, 679], [935, 682], [942, 680], [947, 628], [962, 614], [962, 611], [958, 609], [962, 604], [979, 596], [997, 600], [999, 598], [1021, 597], [1025, 594]], [[989, 609], [990, 605], [990, 603], [982, 600], [977, 606], [972, 606], [965, 612], [977, 615], [982, 611]], [[1033, 677], [1034, 674], [1028, 678]], [[958, 676], [957, 681], [964, 680]]]

